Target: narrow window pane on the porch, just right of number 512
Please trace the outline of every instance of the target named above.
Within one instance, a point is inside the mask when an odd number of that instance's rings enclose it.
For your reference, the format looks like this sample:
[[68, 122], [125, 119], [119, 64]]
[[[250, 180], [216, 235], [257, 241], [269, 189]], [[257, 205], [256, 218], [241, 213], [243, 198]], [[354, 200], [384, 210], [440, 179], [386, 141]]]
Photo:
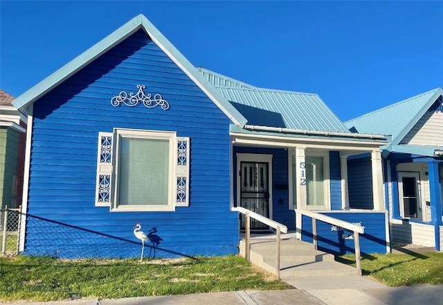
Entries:
[[306, 156], [307, 205], [325, 205], [323, 157]]

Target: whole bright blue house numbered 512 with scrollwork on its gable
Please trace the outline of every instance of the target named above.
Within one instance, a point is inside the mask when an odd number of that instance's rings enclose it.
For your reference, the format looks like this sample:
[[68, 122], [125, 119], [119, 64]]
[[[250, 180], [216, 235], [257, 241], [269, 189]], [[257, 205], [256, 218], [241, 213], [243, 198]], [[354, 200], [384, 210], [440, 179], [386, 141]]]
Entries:
[[[143, 15], [13, 105], [28, 115], [22, 254], [139, 256], [136, 223], [156, 228], [156, 256], [237, 254], [233, 207], [307, 240], [294, 209], [320, 211], [363, 225], [362, 252], [388, 251], [383, 136], [350, 132], [316, 94], [196, 68]], [[347, 166], [362, 153], [372, 202], [352, 209]], [[320, 248], [352, 251], [340, 230], [318, 232]]]

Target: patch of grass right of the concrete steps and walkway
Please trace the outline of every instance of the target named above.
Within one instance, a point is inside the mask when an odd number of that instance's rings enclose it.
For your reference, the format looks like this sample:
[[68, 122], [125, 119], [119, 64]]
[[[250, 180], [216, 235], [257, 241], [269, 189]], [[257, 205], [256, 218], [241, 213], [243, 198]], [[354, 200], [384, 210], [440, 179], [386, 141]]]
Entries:
[[[355, 255], [336, 256], [355, 266]], [[391, 287], [443, 284], [443, 253], [371, 254], [361, 259], [363, 275]]]

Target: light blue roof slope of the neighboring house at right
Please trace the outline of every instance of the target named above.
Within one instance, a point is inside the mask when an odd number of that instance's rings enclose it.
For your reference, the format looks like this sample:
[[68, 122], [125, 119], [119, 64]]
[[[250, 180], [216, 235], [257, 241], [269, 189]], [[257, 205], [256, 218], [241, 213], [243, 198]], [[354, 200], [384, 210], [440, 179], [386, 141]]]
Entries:
[[437, 88], [419, 94], [380, 110], [370, 112], [356, 119], [345, 122], [347, 128], [356, 132], [392, 135], [391, 144], [398, 144], [424, 113], [443, 95], [443, 89]]

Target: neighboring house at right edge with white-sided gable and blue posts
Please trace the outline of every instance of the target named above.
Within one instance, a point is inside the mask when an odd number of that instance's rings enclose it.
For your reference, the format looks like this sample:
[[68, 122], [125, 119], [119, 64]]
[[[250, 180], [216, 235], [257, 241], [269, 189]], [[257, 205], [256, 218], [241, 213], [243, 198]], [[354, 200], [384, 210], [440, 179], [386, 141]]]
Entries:
[[[437, 88], [346, 122], [358, 132], [392, 136], [381, 147], [391, 240], [437, 251], [443, 245], [442, 95]], [[365, 164], [364, 157], [354, 160], [362, 172]]]

